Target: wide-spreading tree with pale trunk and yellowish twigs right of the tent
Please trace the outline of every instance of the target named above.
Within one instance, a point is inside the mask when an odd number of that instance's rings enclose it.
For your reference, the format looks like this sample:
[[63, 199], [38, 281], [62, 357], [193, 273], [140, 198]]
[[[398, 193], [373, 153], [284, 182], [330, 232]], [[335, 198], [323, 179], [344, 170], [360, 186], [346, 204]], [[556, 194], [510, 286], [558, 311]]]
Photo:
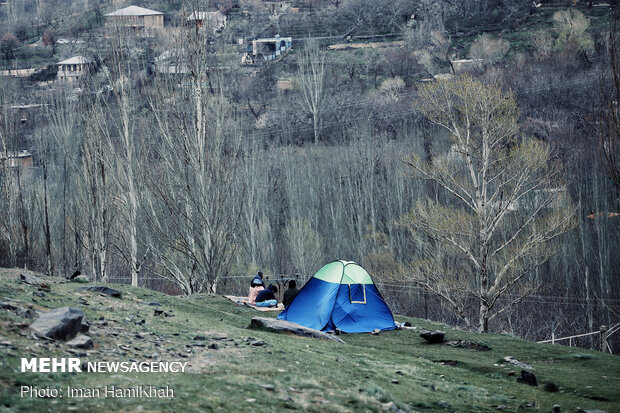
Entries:
[[[418, 266], [415, 281], [448, 302], [466, 291], [478, 306], [478, 329], [487, 332], [490, 319], [531, 292], [516, 285], [551, 256], [549, 241], [573, 226], [572, 211], [555, 202], [560, 167], [545, 144], [519, 136], [514, 97], [497, 84], [468, 76], [439, 81], [423, 86], [415, 105], [451, 144], [430, 161], [408, 161], [414, 176], [435, 183], [449, 200], [420, 200], [403, 220], [441, 247], [429, 249], [433, 265]], [[452, 280], [444, 282], [451, 293], [429, 282], [438, 269]], [[515, 292], [499, 308], [499, 299]]]

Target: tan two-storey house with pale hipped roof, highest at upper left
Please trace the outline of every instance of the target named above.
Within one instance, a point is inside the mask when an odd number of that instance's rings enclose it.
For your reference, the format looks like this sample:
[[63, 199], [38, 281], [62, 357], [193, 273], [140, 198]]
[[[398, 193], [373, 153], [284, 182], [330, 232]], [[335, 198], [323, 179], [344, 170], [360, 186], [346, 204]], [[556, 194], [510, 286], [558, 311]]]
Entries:
[[154, 36], [164, 28], [164, 14], [144, 7], [129, 6], [104, 16], [106, 34], [128, 30], [139, 37]]

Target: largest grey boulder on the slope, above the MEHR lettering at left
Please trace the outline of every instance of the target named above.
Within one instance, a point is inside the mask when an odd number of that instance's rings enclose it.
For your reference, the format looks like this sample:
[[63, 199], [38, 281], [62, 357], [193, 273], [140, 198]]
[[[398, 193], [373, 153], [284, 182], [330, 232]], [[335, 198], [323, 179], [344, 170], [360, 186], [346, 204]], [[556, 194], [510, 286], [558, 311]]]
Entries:
[[55, 340], [70, 340], [82, 329], [84, 313], [71, 307], [62, 307], [42, 313], [30, 328], [40, 336]]

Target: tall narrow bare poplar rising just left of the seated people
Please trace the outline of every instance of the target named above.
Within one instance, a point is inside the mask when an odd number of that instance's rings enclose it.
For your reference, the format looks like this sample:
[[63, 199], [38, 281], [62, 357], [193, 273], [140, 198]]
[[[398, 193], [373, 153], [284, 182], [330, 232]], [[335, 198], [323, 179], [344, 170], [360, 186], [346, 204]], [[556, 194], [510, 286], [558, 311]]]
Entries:
[[177, 50], [187, 73], [160, 75], [149, 98], [158, 141], [158, 172], [147, 179], [149, 245], [158, 273], [186, 294], [216, 292], [236, 250], [244, 204], [241, 135], [215, 83], [208, 32], [183, 33]]

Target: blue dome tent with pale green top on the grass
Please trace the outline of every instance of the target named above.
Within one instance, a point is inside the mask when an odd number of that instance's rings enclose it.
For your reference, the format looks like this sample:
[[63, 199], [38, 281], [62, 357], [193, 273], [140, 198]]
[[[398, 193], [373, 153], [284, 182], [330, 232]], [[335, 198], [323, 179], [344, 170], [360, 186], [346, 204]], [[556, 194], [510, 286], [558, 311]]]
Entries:
[[366, 270], [342, 260], [318, 270], [278, 318], [315, 330], [338, 328], [345, 333], [396, 327], [392, 312]]

